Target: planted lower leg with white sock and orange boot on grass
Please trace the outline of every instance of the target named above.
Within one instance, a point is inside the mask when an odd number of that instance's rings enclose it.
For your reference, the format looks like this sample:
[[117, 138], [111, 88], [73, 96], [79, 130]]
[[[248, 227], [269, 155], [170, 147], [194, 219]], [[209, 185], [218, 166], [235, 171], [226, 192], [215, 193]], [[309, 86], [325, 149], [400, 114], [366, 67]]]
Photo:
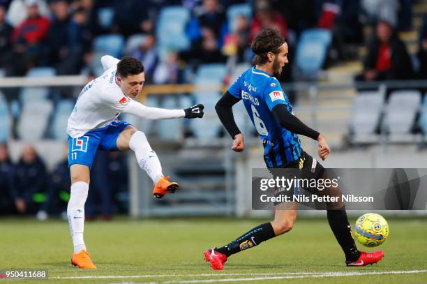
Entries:
[[93, 264], [83, 240], [84, 232], [84, 203], [87, 199], [89, 184], [77, 181], [71, 185], [70, 200], [68, 201], [67, 216], [73, 238], [74, 254], [71, 263], [80, 268], [96, 268]]

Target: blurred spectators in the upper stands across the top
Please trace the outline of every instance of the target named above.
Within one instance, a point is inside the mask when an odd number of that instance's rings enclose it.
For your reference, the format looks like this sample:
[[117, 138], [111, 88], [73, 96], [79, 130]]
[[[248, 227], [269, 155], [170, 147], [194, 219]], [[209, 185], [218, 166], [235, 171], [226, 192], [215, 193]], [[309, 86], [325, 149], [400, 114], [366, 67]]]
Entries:
[[[188, 66], [225, 63], [230, 57], [234, 63], [250, 62], [250, 40], [264, 27], [275, 27], [287, 38], [292, 61], [301, 32], [318, 27], [334, 35], [331, 61], [357, 59], [356, 47], [368, 43], [365, 71], [357, 80], [407, 79], [415, 73], [426, 78], [427, 20], [419, 31], [417, 70], [396, 33], [412, 30], [415, 1], [0, 0], [0, 66], [6, 76], [25, 75], [34, 66], [52, 66], [57, 75], [96, 73], [91, 70], [96, 37], [144, 34], [139, 45], [122, 55], [141, 59], [149, 82], [177, 83], [185, 82], [182, 71]], [[230, 25], [227, 10], [239, 3], [250, 6], [250, 15], [235, 15]], [[168, 6], [190, 10], [185, 31], [190, 46], [159, 54], [156, 20]], [[364, 27], [378, 22], [376, 36], [364, 38]]]

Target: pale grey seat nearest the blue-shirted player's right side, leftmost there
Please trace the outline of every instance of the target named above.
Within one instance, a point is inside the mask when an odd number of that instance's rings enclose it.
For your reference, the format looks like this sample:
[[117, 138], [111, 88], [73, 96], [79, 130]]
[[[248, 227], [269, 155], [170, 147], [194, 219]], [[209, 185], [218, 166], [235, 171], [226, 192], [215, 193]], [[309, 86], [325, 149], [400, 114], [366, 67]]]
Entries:
[[380, 123], [384, 95], [378, 91], [363, 91], [353, 99], [350, 131], [354, 135], [373, 134]]

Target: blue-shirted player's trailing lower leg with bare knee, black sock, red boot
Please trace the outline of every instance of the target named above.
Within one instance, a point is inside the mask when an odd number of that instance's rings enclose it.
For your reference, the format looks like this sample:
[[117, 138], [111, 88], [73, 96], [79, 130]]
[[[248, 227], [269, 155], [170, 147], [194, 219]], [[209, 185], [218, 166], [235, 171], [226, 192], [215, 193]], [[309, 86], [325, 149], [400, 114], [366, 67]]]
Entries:
[[204, 251], [204, 260], [210, 262], [213, 270], [223, 270], [227, 257], [258, 246], [262, 241], [289, 232], [294, 225], [295, 218], [297, 218], [297, 210], [278, 210], [274, 221], [254, 227], [230, 244]]

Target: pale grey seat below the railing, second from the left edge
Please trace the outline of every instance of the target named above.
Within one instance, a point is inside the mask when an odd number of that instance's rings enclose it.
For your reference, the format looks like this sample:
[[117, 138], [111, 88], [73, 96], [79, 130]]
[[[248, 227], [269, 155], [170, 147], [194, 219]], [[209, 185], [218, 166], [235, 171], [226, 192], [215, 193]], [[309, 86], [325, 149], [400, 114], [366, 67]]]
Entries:
[[52, 108], [50, 100], [38, 100], [31, 103], [24, 101], [17, 126], [17, 134], [20, 138], [26, 141], [43, 139]]

